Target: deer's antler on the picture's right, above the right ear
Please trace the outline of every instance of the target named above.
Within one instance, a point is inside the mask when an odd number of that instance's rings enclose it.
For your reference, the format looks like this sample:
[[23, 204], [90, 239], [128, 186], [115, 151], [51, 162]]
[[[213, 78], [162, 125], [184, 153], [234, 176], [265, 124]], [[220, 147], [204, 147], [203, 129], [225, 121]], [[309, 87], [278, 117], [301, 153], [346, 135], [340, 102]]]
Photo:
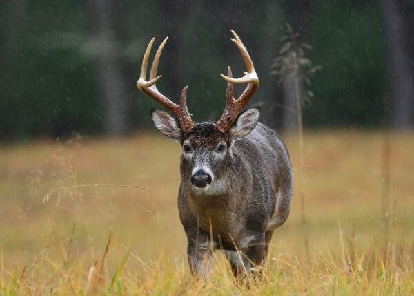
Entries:
[[[221, 132], [226, 132], [231, 125], [236, 120], [237, 116], [239, 116], [242, 109], [247, 105], [250, 98], [253, 96], [257, 87], [259, 87], [259, 77], [256, 74], [255, 67], [253, 66], [253, 61], [250, 59], [246, 47], [240, 40], [239, 36], [235, 33], [235, 31], [230, 30], [235, 37], [234, 39], [230, 39], [235, 43], [235, 45], [239, 48], [240, 52], [242, 53], [244, 63], [246, 63], [247, 71], [243, 72], [244, 76], [242, 78], [233, 78], [231, 74], [230, 67], [227, 68], [228, 76], [224, 76], [220, 74], [221, 77], [225, 81], [227, 81], [227, 94], [226, 94], [226, 107], [224, 108], [223, 115], [217, 123], [215, 123], [217, 129]], [[233, 97], [233, 83], [247, 83], [247, 87], [244, 90], [243, 94], [239, 96], [237, 100]]]

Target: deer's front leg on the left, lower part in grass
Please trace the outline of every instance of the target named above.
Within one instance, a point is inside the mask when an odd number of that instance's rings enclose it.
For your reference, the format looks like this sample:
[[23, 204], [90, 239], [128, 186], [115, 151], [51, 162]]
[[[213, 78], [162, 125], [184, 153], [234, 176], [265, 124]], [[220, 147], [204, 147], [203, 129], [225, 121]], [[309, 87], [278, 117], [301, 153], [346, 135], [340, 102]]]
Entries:
[[209, 235], [201, 229], [195, 229], [187, 234], [188, 264], [193, 275], [206, 277], [211, 274], [211, 253]]

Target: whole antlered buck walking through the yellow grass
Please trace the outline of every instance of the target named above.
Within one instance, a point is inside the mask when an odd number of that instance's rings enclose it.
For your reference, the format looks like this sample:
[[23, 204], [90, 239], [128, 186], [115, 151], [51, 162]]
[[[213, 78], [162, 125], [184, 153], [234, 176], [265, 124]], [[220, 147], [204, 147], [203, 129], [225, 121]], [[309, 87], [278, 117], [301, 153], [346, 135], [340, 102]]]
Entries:
[[[288, 218], [293, 174], [288, 151], [276, 132], [259, 123], [259, 109], [242, 112], [259, 86], [252, 60], [231, 30], [247, 72], [233, 78], [228, 67], [226, 107], [216, 123], [193, 123], [186, 103], [179, 104], [157, 90], [157, 67], [166, 39], [159, 45], [146, 80], [154, 38], [148, 44], [137, 87], [170, 111], [152, 111], [161, 134], [180, 143], [179, 218], [187, 235], [188, 263], [193, 274], [210, 273], [215, 249], [224, 250], [233, 273], [263, 266], [273, 231]], [[233, 83], [246, 83], [237, 100]]]

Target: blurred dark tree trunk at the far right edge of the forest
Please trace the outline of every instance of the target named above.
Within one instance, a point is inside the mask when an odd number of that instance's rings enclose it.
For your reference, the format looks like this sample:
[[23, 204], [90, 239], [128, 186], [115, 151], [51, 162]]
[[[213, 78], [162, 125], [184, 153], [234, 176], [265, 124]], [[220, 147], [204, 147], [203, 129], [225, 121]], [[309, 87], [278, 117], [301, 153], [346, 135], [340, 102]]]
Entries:
[[410, 32], [404, 2], [382, 1], [391, 87], [391, 123], [396, 129], [414, 127], [413, 57], [409, 52]]

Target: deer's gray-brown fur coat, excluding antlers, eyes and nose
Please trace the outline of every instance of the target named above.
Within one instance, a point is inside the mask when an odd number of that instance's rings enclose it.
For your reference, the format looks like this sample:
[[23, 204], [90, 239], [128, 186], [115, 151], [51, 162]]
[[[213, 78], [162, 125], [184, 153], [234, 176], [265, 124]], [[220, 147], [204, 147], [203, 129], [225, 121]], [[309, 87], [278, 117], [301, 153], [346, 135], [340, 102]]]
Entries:
[[[257, 123], [257, 109], [242, 113], [226, 133], [214, 123], [198, 123], [183, 134], [177, 121], [175, 127], [171, 122], [162, 124], [166, 112], [159, 112], [161, 116], [156, 112], [152, 119], [157, 128], [186, 146], [178, 207], [191, 271], [210, 272], [211, 247], [224, 250], [235, 273], [249, 270], [251, 263], [263, 264], [273, 230], [288, 218], [293, 193], [290, 159], [282, 140]], [[171, 128], [176, 136], [171, 136]], [[224, 152], [220, 145], [226, 146]], [[201, 189], [192, 180], [200, 168], [213, 179]]]

